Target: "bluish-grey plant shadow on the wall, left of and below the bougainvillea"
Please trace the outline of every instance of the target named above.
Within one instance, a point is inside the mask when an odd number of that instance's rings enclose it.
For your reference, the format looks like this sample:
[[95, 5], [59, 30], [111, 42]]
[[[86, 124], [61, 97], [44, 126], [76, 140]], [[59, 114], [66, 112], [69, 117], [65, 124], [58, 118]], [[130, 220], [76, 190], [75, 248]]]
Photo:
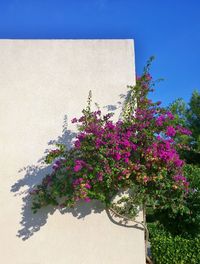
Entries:
[[[75, 136], [76, 133], [67, 129], [67, 116], [65, 116], [62, 135], [56, 140], [49, 141], [48, 145], [59, 143], [64, 144], [67, 148], [71, 148]], [[45, 153], [47, 151], [45, 150]], [[41, 183], [47, 174], [51, 173], [51, 166], [46, 166], [44, 157], [42, 157], [38, 160], [37, 164], [21, 168], [19, 173], [23, 173], [24, 176], [11, 186], [11, 192], [14, 193], [14, 196], [20, 195], [22, 197], [21, 221], [20, 228], [17, 231], [17, 237], [23, 241], [29, 239], [39, 231], [47, 223], [48, 217], [53, 215], [56, 210], [61, 214], [71, 213], [77, 219], [84, 218], [92, 212], [101, 213], [104, 210], [98, 201], [92, 201], [90, 203], [80, 201], [73, 209], [47, 206], [38, 210], [36, 214], [33, 214], [31, 209], [32, 196], [30, 192], [37, 184]]]

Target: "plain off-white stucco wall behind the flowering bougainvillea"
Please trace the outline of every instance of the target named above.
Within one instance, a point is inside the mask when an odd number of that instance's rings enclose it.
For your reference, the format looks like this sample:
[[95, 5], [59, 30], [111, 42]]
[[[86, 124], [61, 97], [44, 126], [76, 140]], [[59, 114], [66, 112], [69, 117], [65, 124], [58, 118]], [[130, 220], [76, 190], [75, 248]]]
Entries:
[[93, 204], [33, 215], [27, 196], [48, 171], [39, 160], [48, 143], [69, 140], [89, 90], [111, 107], [134, 83], [132, 40], [0, 40], [0, 263], [144, 264], [141, 229]]

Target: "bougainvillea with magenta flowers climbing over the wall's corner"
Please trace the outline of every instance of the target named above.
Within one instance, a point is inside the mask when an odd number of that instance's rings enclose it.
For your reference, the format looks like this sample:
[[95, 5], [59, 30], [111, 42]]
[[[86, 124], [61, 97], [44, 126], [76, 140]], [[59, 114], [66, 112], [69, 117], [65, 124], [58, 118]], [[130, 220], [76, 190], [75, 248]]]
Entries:
[[[77, 201], [100, 200], [107, 208], [117, 207], [113, 197], [129, 191], [118, 201], [119, 212], [136, 215], [138, 206], [153, 203], [160, 207], [183, 206], [189, 183], [183, 175], [184, 161], [176, 143], [178, 134], [190, 131], [176, 124], [171, 112], [148, 99], [155, 83], [149, 74], [150, 62], [136, 85], [128, 87], [121, 118], [91, 110], [91, 93], [78, 126], [74, 146], [58, 145], [46, 163], [52, 172], [31, 192], [33, 212], [49, 204], [73, 207]], [[184, 208], [184, 206], [183, 206]], [[120, 211], [121, 210], [121, 211]]]

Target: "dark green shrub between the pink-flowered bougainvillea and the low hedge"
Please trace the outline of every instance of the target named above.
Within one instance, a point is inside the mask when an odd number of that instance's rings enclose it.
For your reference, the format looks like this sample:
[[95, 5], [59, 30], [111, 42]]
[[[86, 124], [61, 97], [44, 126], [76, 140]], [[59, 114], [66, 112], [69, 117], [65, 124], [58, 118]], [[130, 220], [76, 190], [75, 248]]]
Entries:
[[148, 216], [148, 221], [153, 218], [173, 235], [194, 238], [200, 236], [200, 168], [185, 165], [184, 175], [190, 182], [190, 192], [185, 197], [181, 210], [174, 210], [170, 207], [158, 209], [154, 211], [153, 216]]

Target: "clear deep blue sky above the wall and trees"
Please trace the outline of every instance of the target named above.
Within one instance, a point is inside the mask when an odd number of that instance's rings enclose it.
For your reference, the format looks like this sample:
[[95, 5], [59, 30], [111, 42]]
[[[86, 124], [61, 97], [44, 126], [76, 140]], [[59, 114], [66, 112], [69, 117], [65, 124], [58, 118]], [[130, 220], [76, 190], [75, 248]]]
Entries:
[[133, 38], [137, 73], [155, 55], [153, 99], [167, 105], [200, 90], [199, 13], [198, 0], [0, 0], [0, 38]]

